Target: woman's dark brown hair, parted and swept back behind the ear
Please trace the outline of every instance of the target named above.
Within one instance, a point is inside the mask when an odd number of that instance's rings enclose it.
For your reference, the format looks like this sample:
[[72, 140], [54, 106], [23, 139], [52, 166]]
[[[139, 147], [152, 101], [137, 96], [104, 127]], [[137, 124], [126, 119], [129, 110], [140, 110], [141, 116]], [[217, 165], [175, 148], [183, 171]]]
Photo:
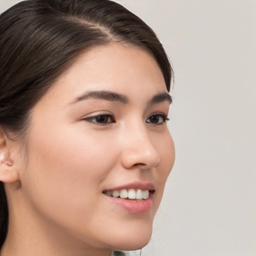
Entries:
[[[140, 18], [109, 0], [26, 0], [0, 15], [0, 127], [25, 140], [29, 110], [81, 53], [94, 45], [127, 42], [157, 61], [167, 90], [173, 76], [157, 36]], [[0, 246], [8, 208], [0, 182]]]

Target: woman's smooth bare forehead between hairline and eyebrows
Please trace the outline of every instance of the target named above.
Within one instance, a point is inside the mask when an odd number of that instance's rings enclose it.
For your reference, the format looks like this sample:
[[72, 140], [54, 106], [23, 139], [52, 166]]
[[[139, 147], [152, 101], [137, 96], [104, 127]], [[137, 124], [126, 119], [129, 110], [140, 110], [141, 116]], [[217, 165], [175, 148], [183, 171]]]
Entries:
[[141, 48], [121, 43], [95, 46], [81, 53], [54, 85], [52, 90], [58, 95], [78, 96], [84, 90], [141, 95], [167, 91], [155, 59]]

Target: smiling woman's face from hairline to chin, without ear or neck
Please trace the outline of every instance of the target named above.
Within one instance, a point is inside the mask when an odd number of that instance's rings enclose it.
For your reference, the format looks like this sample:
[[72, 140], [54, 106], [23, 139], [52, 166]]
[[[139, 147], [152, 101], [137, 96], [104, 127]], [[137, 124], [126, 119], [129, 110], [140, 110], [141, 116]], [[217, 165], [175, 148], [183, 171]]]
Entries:
[[115, 43], [81, 54], [31, 112], [20, 176], [31, 218], [88, 246], [145, 245], [174, 162], [168, 109], [147, 52]]

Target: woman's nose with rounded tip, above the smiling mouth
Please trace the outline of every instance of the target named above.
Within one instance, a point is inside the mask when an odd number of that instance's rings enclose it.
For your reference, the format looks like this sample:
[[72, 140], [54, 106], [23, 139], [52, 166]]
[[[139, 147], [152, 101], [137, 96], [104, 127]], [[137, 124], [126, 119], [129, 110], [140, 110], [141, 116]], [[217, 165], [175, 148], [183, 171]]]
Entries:
[[[142, 126], [142, 125], [141, 125]], [[158, 165], [160, 156], [145, 127], [132, 127], [123, 137], [121, 162], [123, 167], [130, 169], [150, 169]]]

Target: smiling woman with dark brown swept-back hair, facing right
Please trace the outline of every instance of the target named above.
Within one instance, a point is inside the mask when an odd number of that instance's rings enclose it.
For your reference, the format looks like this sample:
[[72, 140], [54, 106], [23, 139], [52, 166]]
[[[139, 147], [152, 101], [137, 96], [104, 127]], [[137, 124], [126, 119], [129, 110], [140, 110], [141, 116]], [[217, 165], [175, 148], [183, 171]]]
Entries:
[[105, 255], [151, 235], [174, 162], [172, 69], [108, 0], [0, 16], [0, 255]]

